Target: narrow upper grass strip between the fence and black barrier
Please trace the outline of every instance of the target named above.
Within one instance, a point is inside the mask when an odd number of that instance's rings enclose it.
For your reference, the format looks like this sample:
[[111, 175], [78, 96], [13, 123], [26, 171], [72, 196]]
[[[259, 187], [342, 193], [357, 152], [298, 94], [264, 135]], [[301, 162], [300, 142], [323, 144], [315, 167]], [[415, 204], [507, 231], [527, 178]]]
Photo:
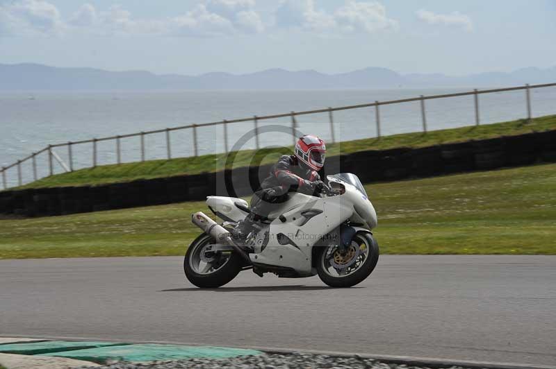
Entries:
[[[472, 126], [449, 130], [436, 130], [426, 135], [420, 132], [382, 137], [381, 139], [359, 139], [338, 144], [329, 144], [329, 155], [348, 154], [357, 151], [382, 150], [399, 147], [425, 147], [436, 144], [456, 143], [471, 139], [488, 139], [502, 135], [521, 135], [528, 132], [556, 129], [556, 115], [533, 119], [531, 123], [523, 120]], [[238, 151], [231, 153], [228, 162], [234, 166], [247, 166], [250, 163], [268, 164], [275, 162], [284, 149], [262, 149], [260, 151]], [[159, 178], [180, 174], [195, 174], [206, 171], [220, 171], [227, 165], [227, 155], [203, 155], [172, 160], [150, 160], [120, 165], [104, 165], [91, 169], [81, 169], [72, 173], [52, 175], [51, 177], [27, 184], [23, 188], [79, 186], [83, 184], [103, 184], [126, 182], [137, 179]]]

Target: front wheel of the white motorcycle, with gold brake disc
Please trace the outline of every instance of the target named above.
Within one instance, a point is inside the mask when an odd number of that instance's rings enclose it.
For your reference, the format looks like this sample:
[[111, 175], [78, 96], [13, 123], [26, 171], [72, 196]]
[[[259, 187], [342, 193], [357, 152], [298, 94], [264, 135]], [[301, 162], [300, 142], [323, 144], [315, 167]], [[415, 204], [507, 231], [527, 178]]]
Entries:
[[336, 245], [323, 248], [317, 260], [318, 276], [331, 287], [355, 286], [373, 273], [378, 257], [375, 237], [368, 232], [358, 232], [347, 250]]

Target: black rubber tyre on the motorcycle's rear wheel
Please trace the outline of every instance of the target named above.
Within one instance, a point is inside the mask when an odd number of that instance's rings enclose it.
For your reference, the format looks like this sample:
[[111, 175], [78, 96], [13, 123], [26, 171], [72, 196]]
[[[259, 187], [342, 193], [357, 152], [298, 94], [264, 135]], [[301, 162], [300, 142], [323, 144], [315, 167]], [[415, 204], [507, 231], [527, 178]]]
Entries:
[[208, 274], [197, 273], [191, 265], [191, 258], [195, 256], [195, 252], [199, 252], [199, 249], [207, 243], [215, 243], [215, 241], [208, 234], [203, 233], [190, 244], [186, 257], [183, 259], [183, 271], [186, 273], [189, 282], [195, 284], [195, 286], [201, 289], [215, 289], [224, 286], [238, 275], [242, 268], [242, 259], [237, 252], [231, 252], [229, 260], [218, 270]]

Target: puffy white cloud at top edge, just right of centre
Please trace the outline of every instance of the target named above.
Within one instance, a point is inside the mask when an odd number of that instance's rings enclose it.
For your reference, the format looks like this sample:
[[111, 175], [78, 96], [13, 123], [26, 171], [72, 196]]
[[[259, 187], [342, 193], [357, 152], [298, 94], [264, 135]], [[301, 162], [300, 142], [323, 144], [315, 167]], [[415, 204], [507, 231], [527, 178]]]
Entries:
[[332, 14], [317, 9], [313, 0], [284, 0], [275, 12], [279, 27], [298, 27], [317, 32], [366, 32], [397, 28], [381, 3], [346, 0]]

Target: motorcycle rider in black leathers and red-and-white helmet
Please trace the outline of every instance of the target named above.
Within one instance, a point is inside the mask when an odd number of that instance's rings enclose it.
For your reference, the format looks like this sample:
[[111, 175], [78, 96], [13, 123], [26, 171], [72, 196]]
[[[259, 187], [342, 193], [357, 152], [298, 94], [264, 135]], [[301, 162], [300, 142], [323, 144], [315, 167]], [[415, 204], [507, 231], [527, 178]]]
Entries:
[[266, 218], [275, 204], [288, 199], [288, 192], [313, 195], [325, 183], [318, 171], [325, 165], [326, 145], [316, 135], [304, 135], [295, 144], [295, 155], [284, 155], [270, 169], [270, 175], [261, 183], [251, 199], [251, 212], [240, 221], [234, 235], [245, 239], [254, 226]]

